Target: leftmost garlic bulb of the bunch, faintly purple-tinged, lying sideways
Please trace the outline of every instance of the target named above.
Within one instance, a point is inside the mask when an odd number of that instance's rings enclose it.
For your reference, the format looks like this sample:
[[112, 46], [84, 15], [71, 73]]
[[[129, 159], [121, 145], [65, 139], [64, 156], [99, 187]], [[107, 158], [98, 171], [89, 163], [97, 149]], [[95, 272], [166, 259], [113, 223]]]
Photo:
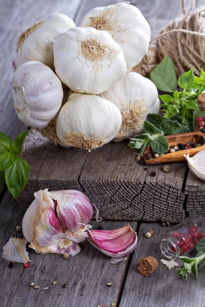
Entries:
[[14, 108], [27, 126], [43, 128], [58, 113], [63, 89], [54, 72], [36, 61], [19, 66], [13, 81]]

